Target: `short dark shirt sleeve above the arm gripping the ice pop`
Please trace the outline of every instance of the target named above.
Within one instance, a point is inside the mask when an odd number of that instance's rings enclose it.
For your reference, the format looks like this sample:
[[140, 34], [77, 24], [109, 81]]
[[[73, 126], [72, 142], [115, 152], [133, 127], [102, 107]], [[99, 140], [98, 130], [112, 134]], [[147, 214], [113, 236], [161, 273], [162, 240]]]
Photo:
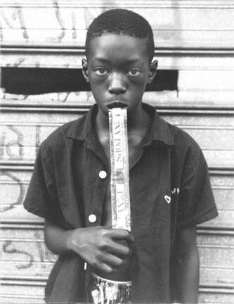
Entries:
[[39, 147], [30, 186], [23, 205], [27, 211], [39, 217], [44, 217], [53, 222], [62, 220], [53, 162], [44, 143]]

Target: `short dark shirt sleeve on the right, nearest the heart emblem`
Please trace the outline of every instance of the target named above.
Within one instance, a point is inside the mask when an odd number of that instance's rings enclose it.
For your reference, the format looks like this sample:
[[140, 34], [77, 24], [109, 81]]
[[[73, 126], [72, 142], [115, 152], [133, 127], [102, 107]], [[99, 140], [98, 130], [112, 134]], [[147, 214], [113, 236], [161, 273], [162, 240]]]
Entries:
[[207, 162], [197, 144], [188, 149], [179, 193], [181, 227], [212, 220], [218, 215]]

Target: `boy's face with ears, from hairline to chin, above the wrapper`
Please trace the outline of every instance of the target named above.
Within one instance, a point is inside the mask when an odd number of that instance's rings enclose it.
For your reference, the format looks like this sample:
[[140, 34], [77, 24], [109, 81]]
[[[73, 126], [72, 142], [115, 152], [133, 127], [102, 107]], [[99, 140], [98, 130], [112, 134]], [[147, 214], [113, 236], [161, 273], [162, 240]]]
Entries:
[[102, 113], [108, 104], [122, 101], [129, 113], [141, 110], [146, 84], [152, 82], [156, 66], [149, 64], [146, 39], [104, 34], [91, 39], [88, 63], [83, 73]]

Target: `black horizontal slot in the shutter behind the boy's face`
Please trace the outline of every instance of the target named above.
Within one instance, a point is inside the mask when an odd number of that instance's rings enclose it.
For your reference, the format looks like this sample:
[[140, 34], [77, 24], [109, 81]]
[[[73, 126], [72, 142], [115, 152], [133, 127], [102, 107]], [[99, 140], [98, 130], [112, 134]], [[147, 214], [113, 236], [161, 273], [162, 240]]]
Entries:
[[[177, 90], [178, 71], [158, 70], [146, 91]], [[90, 91], [81, 69], [2, 68], [1, 87], [11, 94], [45, 94], [59, 91]]]

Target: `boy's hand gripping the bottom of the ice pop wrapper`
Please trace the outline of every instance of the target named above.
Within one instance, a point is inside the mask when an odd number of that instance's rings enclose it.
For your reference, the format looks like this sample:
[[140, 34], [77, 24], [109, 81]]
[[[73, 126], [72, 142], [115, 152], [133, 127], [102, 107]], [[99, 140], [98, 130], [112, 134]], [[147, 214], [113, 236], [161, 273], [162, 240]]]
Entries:
[[131, 254], [129, 246], [117, 241], [134, 241], [133, 236], [125, 229], [105, 226], [78, 228], [70, 231], [67, 248], [78, 253], [91, 266], [103, 272], [114, 272]]

